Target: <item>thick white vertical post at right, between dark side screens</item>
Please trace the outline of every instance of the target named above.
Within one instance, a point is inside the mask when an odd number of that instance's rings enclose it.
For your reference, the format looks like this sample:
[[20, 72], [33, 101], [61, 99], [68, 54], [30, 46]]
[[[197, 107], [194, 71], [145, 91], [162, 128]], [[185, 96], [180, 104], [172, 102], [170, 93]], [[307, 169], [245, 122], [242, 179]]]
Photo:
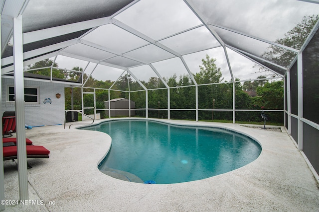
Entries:
[[298, 77], [298, 149], [303, 150], [303, 121], [301, 118], [304, 115], [304, 98], [303, 98], [303, 53], [298, 54], [297, 60], [297, 77]]

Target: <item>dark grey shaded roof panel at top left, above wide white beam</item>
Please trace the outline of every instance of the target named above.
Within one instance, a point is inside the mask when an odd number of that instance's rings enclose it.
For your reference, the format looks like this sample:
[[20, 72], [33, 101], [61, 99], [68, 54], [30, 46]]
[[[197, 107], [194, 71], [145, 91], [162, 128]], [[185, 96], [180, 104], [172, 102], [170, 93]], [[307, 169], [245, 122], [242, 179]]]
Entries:
[[23, 12], [23, 32], [108, 17], [133, 0], [29, 0]]

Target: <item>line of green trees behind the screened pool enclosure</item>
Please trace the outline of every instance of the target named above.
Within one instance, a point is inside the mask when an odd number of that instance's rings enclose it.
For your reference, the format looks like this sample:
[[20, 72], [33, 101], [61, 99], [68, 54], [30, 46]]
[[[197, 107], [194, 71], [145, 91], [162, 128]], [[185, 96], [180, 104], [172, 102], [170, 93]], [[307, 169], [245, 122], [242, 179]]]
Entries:
[[[205, 59], [202, 59], [202, 66], [199, 67], [200, 71], [192, 73], [192, 77], [189, 75], [177, 76], [173, 74], [163, 80], [170, 87], [170, 118], [171, 119], [195, 119], [196, 108], [196, 94], [195, 86], [192, 78], [198, 84], [198, 118], [199, 120], [232, 120], [232, 111], [214, 111], [212, 109], [226, 109], [231, 110], [233, 108], [233, 86], [235, 86], [235, 109], [255, 109], [255, 110], [267, 110], [267, 109], [283, 109], [283, 81], [269, 82], [265, 80], [264, 76], [260, 76], [262, 80], [246, 81], [242, 85], [240, 82], [233, 83], [232, 81], [226, 81], [222, 77], [220, 68], [215, 64], [216, 60], [206, 55]], [[30, 69], [39, 67], [48, 67], [53, 61], [45, 60], [30, 66]], [[58, 67], [54, 64], [53, 67]], [[74, 67], [74, 71], [83, 71], [79, 67]], [[32, 71], [37, 74], [49, 74], [50, 69], [41, 69], [38, 71]], [[72, 71], [63, 71], [53, 69], [53, 75], [69, 80], [78, 80], [81, 77], [81, 73]], [[88, 75], [84, 74], [83, 80], [86, 81], [83, 91], [94, 92], [96, 89], [96, 109], [104, 109], [104, 101], [108, 99], [108, 88], [112, 86], [110, 90], [110, 99], [114, 98], [129, 98], [129, 88], [131, 91], [131, 100], [135, 102], [135, 107], [138, 109], [146, 108], [146, 91], [143, 90], [141, 85], [132, 79], [129, 74], [123, 75], [117, 82], [111, 80], [96, 80], [92, 76], [88, 78]], [[236, 79], [239, 81], [239, 79]], [[163, 82], [159, 77], [151, 77], [148, 81], [141, 81], [148, 89], [148, 107], [149, 117], [153, 118], [167, 118], [167, 88], [165, 88]], [[214, 84], [216, 83], [216, 84]], [[202, 85], [205, 84], [205, 85]], [[208, 85], [206, 85], [208, 84]], [[89, 88], [87, 88], [89, 87]], [[159, 89], [162, 88], [162, 89]], [[118, 90], [118, 91], [115, 91]], [[137, 91], [140, 90], [140, 91]], [[142, 90], [142, 91], [141, 91]], [[125, 92], [127, 91], [127, 92]], [[248, 91], [256, 92], [256, 96], [250, 96]], [[71, 92], [70, 87], [65, 88], [65, 107], [71, 109]], [[81, 88], [73, 88], [74, 96], [74, 109], [82, 109], [81, 101]], [[93, 107], [93, 95], [84, 95], [84, 107]], [[160, 109], [160, 110], [159, 110]], [[174, 109], [186, 109], [186, 110], [174, 110]], [[187, 110], [188, 109], [188, 110]], [[86, 114], [92, 114], [92, 109], [84, 111]], [[105, 117], [105, 112], [100, 111], [102, 118]], [[136, 116], [145, 117], [145, 110], [136, 110]], [[270, 120], [275, 123], [283, 123], [283, 114], [280, 112], [269, 114]], [[237, 121], [261, 121], [260, 112], [236, 112]]]

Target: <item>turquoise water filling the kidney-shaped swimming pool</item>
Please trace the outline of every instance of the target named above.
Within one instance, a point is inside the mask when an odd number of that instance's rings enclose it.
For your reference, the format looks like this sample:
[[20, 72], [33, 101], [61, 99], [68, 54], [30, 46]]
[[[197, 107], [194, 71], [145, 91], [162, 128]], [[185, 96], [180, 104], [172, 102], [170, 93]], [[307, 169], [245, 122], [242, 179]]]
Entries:
[[101, 131], [112, 138], [111, 149], [99, 166], [101, 171], [123, 171], [157, 184], [222, 174], [252, 162], [261, 153], [256, 141], [219, 128], [116, 120], [84, 129]]

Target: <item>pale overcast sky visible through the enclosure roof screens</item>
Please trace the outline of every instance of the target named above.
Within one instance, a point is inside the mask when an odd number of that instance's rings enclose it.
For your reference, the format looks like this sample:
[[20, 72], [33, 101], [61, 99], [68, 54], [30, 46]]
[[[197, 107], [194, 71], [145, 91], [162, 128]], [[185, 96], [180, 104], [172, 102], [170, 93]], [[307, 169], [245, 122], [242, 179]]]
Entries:
[[[287, 31], [302, 20], [303, 16], [319, 13], [319, 4], [299, 0], [189, 0], [189, 2], [196, 5], [195, 9], [203, 15], [204, 21], [209, 24], [222, 25], [269, 41], [282, 38]], [[153, 45], [136, 49], [148, 42], [113, 24], [99, 27], [89, 35], [84, 36], [83, 40], [127, 54], [141, 61], [160, 60], [152, 63], [152, 65], [162, 77], [166, 78], [172, 76], [173, 73], [179, 76], [187, 74], [188, 71], [198, 72], [199, 66], [202, 65], [201, 60], [208, 54], [211, 58], [216, 59], [216, 65], [221, 69], [224, 80], [230, 81], [231, 75], [224, 48], [216, 47], [219, 43], [206, 27], [202, 26], [174, 37], [166, 38], [169, 35], [202, 24], [182, 0], [140, 0], [114, 18], [183, 55], [182, 58], [186, 66], [178, 57]], [[215, 27], [212, 26], [212, 28], [214, 29]], [[244, 48], [247, 52], [261, 54], [267, 50], [265, 47], [269, 46], [269, 44], [259, 45], [258, 42], [254, 42], [250, 38], [236, 40], [237, 37], [233, 33], [222, 31], [219, 28], [215, 29], [216, 32], [221, 32], [219, 35], [226, 44], [231, 43], [235, 47]], [[73, 47], [66, 48], [64, 51], [73, 54], [79, 53], [81, 56], [87, 57], [93, 55], [93, 52], [90, 52], [93, 48], [86, 48], [83, 51], [80, 45], [76, 44]], [[133, 49], [136, 50], [130, 51]], [[234, 77], [244, 80], [254, 79], [261, 75], [258, 73], [259, 67], [255, 67], [255, 63], [229, 48], [226, 48], [226, 51]], [[194, 53], [189, 54], [191, 52]], [[100, 53], [95, 57], [98, 56], [100, 56], [100, 59], [110, 57], [108, 54], [104, 56]], [[109, 59], [105, 60], [105, 62], [114, 60]], [[117, 58], [115, 61], [120, 63]], [[127, 61], [127, 63], [131, 62]], [[58, 56], [56, 63], [58, 63], [60, 68], [67, 69], [77, 66], [84, 69], [87, 65], [87, 62], [70, 59], [65, 56]], [[95, 64], [91, 63], [85, 72], [91, 73], [94, 67]], [[130, 70], [144, 81], [156, 76], [154, 71], [147, 65], [138, 66]], [[123, 73], [121, 69], [98, 65], [92, 76], [98, 80], [114, 81], [118, 79], [121, 73]]]

